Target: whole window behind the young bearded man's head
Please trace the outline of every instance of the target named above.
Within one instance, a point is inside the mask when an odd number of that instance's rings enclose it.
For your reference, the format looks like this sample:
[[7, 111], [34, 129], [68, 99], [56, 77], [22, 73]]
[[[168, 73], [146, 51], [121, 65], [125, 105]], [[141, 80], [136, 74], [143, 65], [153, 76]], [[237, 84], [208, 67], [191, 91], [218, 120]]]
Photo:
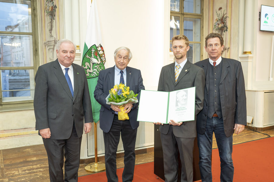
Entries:
[[175, 35], [188, 37], [190, 49], [187, 58], [191, 63], [202, 60], [202, 5], [203, 0], [170, 0], [170, 52]]

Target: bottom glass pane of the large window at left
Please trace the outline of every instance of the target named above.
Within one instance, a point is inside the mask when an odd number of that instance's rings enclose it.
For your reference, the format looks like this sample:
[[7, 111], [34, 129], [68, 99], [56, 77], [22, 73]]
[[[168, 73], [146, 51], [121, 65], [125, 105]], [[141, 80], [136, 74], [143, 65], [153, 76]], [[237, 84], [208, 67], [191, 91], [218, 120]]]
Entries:
[[33, 99], [33, 70], [1, 70], [1, 81], [4, 102]]

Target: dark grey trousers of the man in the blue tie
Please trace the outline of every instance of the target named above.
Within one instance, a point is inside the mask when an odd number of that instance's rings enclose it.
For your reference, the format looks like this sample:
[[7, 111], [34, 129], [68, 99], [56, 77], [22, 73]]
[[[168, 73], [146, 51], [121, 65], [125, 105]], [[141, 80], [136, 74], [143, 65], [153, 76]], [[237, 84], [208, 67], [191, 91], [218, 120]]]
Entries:
[[[82, 136], [78, 138], [75, 125], [68, 139], [44, 139], [47, 151], [48, 169], [51, 182], [75, 182], [78, 181], [78, 169], [80, 164], [80, 149]], [[63, 165], [65, 156], [65, 178]]]

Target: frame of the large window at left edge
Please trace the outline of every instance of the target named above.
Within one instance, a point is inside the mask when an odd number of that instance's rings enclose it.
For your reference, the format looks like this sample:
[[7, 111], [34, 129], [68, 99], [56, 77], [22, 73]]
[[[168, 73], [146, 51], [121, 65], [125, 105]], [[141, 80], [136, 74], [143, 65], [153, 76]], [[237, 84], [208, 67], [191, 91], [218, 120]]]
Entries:
[[[8, 2], [8, 1], [1, 1]], [[39, 66], [39, 52], [38, 52], [38, 16], [37, 16], [37, 0], [30, 0], [31, 5], [31, 23], [32, 23], [32, 32], [8, 32], [8, 31], [0, 31], [0, 34], [9, 34], [14, 35], [30, 35], [32, 36], [32, 49], [33, 49], [33, 66], [29, 67], [0, 67], [1, 70], [33, 70], [33, 81], [37, 72], [37, 68]], [[31, 79], [31, 78], [30, 78]], [[35, 84], [34, 84], [35, 85]], [[30, 89], [34, 91], [33, 89]], [[0, 112], [2, 111], [15, 111], [15, 110], [26, 110], [33, 109], [33, 99], [30, 100], [22, 100], [22, 101], [2, 101], [2, 78], [0, 77]]]

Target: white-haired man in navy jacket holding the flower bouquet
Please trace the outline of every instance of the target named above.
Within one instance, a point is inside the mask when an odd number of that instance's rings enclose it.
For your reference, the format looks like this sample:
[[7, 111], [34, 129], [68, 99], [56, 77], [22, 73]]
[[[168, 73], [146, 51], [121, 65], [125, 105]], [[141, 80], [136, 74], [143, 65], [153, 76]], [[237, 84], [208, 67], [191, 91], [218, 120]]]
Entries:
[[125, 112], [128, 113], [129, 120], [118, 120], [119, 106], [107, 105], [106, 97], [109, 90], [114, 85], [125, 83], [130, 90], [138, 94], [145, 89], [141, 71], [132, 67], [127, 67], [132, 58], [132, 53], [127, 47], [119, 47], [114, 52], [115, 66], [99, 72], [98, 82], [94, 90], [94, 98], [99, 104], [100, 109], [100, 128], [103, 130], [105, 144], [105, 164], [107, 181], [118, 182], [116, 174], [116, 152], [120, 140], [120, 134], [125, 150], [123, 171], [123, 181], [132, 181], [135, 165], [135, 142], [137, 128], [138, 105], [139, 103], [128, 103], [125, 105]]

